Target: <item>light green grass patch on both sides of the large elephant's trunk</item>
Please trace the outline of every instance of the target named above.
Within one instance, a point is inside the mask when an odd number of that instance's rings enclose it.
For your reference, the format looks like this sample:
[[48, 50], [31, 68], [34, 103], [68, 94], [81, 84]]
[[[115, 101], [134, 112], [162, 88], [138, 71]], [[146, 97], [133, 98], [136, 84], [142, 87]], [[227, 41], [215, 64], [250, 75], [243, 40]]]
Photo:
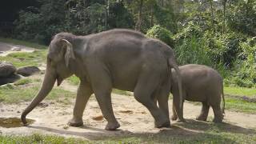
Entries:
[[[4, 103], [18, 103], [22, 101], [30, 101], [40, 89], [38, 83], [34, 83], [33, 86], [14, 86], [7, 84], [6, 86], [0, 86], [0, 102]], [[50, 91], [50, 94], [46, 97], [49, 100], [56, 100], [64, 104], [70, 104], [70, 98], [75, 98], [75, 93], [68, 90], [62, 90], [61, 88], [54, 87]]]

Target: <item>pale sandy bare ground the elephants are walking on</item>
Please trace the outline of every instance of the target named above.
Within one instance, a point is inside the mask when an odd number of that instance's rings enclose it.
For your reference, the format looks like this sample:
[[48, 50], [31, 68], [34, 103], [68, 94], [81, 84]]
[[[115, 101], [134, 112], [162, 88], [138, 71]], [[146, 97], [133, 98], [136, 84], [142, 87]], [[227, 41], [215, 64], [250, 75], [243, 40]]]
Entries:
[[[0, 50], [2, 49], [2, 42], [0, 42]], [[41, 76], [34, 76], [34, 78], [42, 78]], [[32, 77], [33, 78], [33, 77]], [[75, 92], [77, 86], [70, 86], [67, 82], [62, 83], [62, 88]], [[84, 111], [83, 121], [84, 126], [71, 127], [66, 123], [72, 118], [72, 111], [74, 106], [74, 99], [71, 105], [64, 105], [58, 102], [43, 101], [40, 106], [37, 106], [27, 118], [34, 119], [35, 122], [30, 126], [21, 126], [14, 128], [4, 128], [0, 126], [0, 134], [58, 134], [66, 137], [79, 137], [87, 139], [99, 139], [112, 136], [124, 136], [131, 134], [156, 134], [161, 133], [162, 130], [154, 128], [154, 119], [146, 110], [145, 106], [137, 102], [133, 96], [126, 96], [120, 94], [112, 94], [112, 103], [114, 114], [121, 124], [121, 127], [115, 131], [104, 130], [106, 120], [100, 118], [102, 116], [99, 109], [98, 102], [91, 96]], [[6, 105], [0, 102], [0, 118], [20, 118], [22, 110], [29, 105], [30, 102], [21, 102], [19, 104]], [[172, 100], [169, 102], [170, 114], [172, 113]], [[185, 102], [184, 117], [191, 127], [182, 127], [181, 123], [171, 122], [172, 126], [168, 128], [170, 134], [200, 134], [203, 130], [195, 129], [193, 124], [197, 123], [195, 117], [200, 113], [201, 106], [195, 106], [191, 103]], [[99, 117], [94, 120], [94, 117]], [[212, 120], [214, 114], [210, 109], [208, 119]], [[226, 125], [235, 132], [243, 133], [251, 129], [256, 129], [256, 114], [243, 114], [231, 112], [226, 110], [224, 119]], [[199, 122], [205, 125], [209, 122]], [[208, 127], [209, 128], [209, 127]]]

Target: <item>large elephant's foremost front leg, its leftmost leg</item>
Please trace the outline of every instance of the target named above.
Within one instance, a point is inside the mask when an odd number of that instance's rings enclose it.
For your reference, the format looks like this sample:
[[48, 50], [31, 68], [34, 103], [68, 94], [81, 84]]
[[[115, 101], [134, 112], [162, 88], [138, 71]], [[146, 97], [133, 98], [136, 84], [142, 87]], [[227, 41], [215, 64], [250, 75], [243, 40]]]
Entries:
[[93, 91], [90, 88], [90, 85], [88, 83], [81, 82], [78, 87], [78, 94], [74, 104], [73, 118], [69, 121], [70, 126], [83, 125], [82, 114], [91, 94], [93, 94]]

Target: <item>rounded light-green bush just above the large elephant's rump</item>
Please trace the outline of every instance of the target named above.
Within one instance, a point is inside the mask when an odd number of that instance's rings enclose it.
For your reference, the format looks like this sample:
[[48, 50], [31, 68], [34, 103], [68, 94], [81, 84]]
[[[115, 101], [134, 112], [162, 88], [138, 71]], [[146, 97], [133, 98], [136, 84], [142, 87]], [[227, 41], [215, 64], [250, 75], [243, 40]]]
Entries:
[[158, 38], [167, 45], [174, 47], [174, 40], [171, 38], [171, 33], [162, 26], [155, 25], [146, 32], [146, 36], [149, 38]]

